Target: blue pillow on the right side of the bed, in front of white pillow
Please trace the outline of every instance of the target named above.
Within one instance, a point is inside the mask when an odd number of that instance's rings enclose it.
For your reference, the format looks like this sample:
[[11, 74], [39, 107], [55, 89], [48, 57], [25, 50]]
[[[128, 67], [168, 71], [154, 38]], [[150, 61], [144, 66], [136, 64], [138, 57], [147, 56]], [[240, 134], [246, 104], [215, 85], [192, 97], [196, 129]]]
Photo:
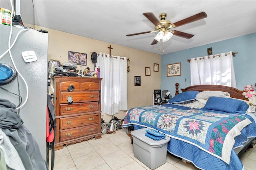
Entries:
[[226, 113], [238, 113], [246, 115], [249, 105], [237, 99], [227, 97], [210, 97], [203, 108]]

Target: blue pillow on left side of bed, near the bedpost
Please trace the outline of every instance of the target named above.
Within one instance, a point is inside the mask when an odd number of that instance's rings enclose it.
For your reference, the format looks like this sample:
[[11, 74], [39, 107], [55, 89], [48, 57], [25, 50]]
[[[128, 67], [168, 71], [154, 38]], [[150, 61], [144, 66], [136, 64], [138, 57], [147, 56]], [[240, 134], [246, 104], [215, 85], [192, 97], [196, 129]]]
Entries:
[[174, 103], [184, 103], [186, 101], [192, 101], [196, 99], [196, 95], [199, 93], [199, 91], [185, 91], [183, 93], [180, 93], [176, 96], [174, 96], [172, 99], [169, 99], [170, 104]]

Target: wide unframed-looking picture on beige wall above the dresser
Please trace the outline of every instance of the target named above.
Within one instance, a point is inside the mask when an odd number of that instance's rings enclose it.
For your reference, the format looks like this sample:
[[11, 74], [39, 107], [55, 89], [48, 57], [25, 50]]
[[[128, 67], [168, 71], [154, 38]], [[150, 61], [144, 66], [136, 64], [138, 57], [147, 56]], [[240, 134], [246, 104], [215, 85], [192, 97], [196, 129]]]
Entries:
[[87, 54], [68, 51], [68, 63], [76, 63], [78, 65], [87, 64]]

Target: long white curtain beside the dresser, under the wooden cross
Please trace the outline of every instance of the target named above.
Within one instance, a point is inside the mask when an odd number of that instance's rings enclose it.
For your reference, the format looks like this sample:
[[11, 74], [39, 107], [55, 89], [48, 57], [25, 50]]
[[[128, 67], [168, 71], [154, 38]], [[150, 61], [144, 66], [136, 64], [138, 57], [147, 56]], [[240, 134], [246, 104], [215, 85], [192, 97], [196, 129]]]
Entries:
[[98, 53], [100, 67], [102, 115], [114, 115], [127, 110], [127, 59], [126, 57]]

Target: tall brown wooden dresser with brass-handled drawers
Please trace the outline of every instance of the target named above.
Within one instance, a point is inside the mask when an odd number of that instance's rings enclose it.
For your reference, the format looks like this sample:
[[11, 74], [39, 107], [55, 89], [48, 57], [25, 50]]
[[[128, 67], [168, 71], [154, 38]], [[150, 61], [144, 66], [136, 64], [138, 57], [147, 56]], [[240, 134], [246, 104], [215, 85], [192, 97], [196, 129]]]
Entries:
[[[53, 77], [56, 114], [55, 146], [101, 138], [100, 91], [101, 78]], [[74, 87], [68, 91], [68, 87]], [[73, 103], [68, 104], [68, 98]], [[70, 100], [69, 100], [70, 101]]]

